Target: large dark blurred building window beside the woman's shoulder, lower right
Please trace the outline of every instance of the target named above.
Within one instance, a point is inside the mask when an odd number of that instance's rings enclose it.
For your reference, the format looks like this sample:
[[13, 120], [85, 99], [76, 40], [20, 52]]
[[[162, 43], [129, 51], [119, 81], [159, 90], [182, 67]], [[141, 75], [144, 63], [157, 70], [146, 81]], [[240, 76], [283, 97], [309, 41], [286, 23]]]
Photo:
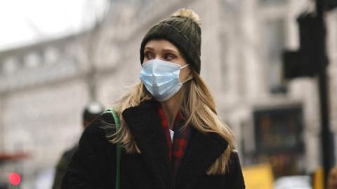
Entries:
[[299, 105], [253, 112], [256, 163], [269, 162], [274, 176], [303, 174], [303, 110]]

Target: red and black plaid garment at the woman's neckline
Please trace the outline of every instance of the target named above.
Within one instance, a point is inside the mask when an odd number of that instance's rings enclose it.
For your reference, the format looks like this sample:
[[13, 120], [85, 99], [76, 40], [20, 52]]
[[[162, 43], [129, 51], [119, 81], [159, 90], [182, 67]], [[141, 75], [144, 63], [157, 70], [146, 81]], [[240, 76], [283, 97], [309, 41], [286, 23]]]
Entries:
[[171, 134], [169, 132], [169, 123], [166, 120], [164, 109], [159, 105], [159, 116], [161, 118], [161, 125], [166, 135], [167, 145], [169, 146], [169, 159], [172, 163], [173, 175], [176, 175], [181, 158], [183, 158], [187, 142], [190, 139], [190, 127], [185, 127], [184, 130], [180, 130], [184, 125], [183, 117], [178, 112], [176, 120], [173, 125], [173, 144], [171, 141]]

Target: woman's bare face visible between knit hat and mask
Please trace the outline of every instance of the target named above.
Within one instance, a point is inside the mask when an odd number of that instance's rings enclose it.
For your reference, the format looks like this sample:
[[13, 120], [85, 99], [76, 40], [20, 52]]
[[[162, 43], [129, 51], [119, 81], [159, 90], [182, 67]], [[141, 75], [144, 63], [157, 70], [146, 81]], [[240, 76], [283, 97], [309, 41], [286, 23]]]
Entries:
[[[150, 59], [160, 59], [180, 66], [187, 64], [185, 58], [173, 43], [165, 39], [152, 39], [144, 48], [144, 63]], [[190, 75], [190, 66], [180, 69], [180, 82], [184, 82]]]

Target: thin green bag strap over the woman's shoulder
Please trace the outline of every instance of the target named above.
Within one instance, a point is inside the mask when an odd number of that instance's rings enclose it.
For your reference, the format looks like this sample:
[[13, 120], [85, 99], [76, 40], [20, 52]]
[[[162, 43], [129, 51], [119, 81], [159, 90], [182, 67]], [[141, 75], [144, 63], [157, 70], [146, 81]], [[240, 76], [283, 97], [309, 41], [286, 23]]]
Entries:
[[[114, 124], [116, 125], [116, 130], [119, 130], [120, 122], [119, 118], [117, 116], [117, 113], [113, 111], [112, 109], [107, 109], [107, 113], [111, 113], [114, 117]], [[121, 186], [121, 146], [119, 144], [116, 144], [116, 189], [119, 189]]]

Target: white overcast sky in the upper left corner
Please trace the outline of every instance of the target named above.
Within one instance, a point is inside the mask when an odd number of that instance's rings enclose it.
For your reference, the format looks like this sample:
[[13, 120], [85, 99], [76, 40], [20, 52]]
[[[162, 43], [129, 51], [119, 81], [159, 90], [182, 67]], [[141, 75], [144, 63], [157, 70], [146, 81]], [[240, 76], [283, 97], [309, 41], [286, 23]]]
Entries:
[[106, 0], [0, 0], [0, 50], [78, 32]]

